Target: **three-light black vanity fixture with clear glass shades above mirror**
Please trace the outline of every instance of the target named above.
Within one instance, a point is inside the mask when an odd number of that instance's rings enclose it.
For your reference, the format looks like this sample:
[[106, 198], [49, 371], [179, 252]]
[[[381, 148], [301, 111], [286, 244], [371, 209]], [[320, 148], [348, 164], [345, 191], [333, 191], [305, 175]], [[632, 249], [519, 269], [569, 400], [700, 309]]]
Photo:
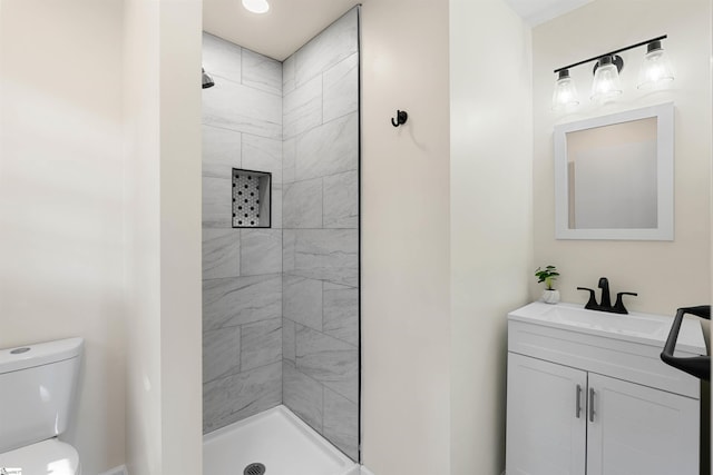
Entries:
[[563, 110], [579, 103], [575, 83], [569, 77], [569, 70], [592, 61], [596, 61], [594, 80], [592, 82], [592, 100], [606, 102], [619, 96], [622, 93], [619, 72], [624, 68], [624, 60], [617, 53], [644, 44], [647, 46], [647, 51], [638, 76], [638, 89], [654, 89], [665, 82], [672, 81], [673, 72], [671, 70], [671, 63], [661, 47], [661, 41], [666, 38], [667, 34], [663, 34], [555, 69], [557, 80], [553, 93], [553, 110]]

